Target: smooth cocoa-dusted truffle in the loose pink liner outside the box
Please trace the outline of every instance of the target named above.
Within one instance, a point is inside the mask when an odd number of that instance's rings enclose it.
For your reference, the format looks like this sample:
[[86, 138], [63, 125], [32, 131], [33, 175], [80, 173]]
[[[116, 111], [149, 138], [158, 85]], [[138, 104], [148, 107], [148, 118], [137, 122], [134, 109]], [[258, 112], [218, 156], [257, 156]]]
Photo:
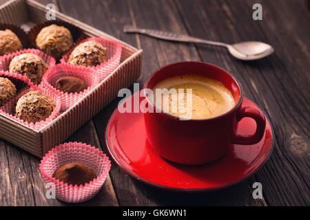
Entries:
[[96, 173], [93, 168], [87, 164], [74, 162], [63, 164], [57, 168], [53, 174], [55, 179], [63, 181], [68, 185], [84, 185], [96, 179]]

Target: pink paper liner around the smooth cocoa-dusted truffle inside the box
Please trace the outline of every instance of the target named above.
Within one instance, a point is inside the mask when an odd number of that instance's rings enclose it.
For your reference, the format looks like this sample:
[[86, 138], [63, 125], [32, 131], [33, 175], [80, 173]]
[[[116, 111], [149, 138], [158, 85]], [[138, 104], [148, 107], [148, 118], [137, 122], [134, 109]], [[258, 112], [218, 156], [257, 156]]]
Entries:
[[[86, 96], [99, 82], [98, 72], [96, 69], [89, 69], [81, 66], [69, 65], [67, 63], [61, 63], [54, 65], [54, 67], [48, 69], [45, 72], [40, 87], [50, 89], [61, 98], [61, 111], [66, 111], [72, 107], [76, 102]], [[56, 81], [61, 77], [74, 76], [81, 78], [87, 84], [87, 89], [79, 93], [68, 94], [59, 91], [54, 87]]]

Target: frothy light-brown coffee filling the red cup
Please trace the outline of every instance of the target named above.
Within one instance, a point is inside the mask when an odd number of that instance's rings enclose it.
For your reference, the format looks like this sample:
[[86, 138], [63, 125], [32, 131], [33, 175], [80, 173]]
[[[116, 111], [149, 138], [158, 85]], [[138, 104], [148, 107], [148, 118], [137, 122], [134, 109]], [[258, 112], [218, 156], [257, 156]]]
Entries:
[[214, 118], [235, 105], [231, 92], [223, 83], [196, 74], [166, 78], [152, 91], [155, 106], [178, 118]]

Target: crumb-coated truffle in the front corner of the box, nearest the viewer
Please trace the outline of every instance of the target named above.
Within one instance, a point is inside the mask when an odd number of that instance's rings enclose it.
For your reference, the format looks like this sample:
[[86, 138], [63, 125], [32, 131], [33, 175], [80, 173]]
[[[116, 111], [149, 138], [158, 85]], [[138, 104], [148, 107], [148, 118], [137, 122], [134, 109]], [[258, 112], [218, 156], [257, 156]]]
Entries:
[[48, 118], [56, 107], [50, 96], [41, 91], [30, 91], [17, 101], [15, 116], [24, 122], [40, 122]]

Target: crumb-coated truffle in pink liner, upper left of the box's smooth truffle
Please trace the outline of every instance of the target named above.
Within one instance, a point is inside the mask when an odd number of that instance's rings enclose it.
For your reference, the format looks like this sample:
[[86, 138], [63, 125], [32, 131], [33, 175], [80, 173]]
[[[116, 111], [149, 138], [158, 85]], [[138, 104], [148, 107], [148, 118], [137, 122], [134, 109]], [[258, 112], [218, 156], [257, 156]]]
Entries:
[[21, 54], [12, 58], [10, 72], [21, 74], [30, 78], [35, 85], [41, 83], [42, 76], [48, 70], [48, 64], [36, 54]]

